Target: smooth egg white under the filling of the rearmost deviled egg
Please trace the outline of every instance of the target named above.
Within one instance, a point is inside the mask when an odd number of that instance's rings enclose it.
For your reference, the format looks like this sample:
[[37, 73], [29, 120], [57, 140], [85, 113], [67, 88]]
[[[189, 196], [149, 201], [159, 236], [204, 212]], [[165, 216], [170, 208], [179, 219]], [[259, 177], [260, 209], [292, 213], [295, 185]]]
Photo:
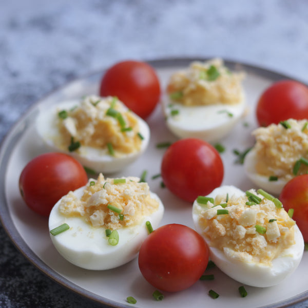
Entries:
[[[162, 105], [167, 127], [172, 133], [179, 138], [200, 138], [207, 142], [216, 142], [227, 136], [244, 114], [246, 106], [244, 97], [237, 105], [184, 106], [170, 101], [167, 95]], [[172, 110], [179, 112], [171, 115]]]

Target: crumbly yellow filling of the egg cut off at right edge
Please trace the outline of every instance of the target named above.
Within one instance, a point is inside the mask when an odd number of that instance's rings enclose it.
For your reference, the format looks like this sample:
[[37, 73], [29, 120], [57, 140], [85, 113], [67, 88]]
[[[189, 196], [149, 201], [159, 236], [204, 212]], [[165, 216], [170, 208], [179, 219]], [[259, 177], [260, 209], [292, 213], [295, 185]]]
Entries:
[[[308, 159], [307, 120], [289, 119], [290, 128], [281, 124], [259, 127], [253, 131], [256, 138], [256, 171], [264, 176], [276, 176], [279, 179], [291, 180], [293, 168], [301, 157]], [[297, 175], [306, 174], [308, 166], [300, 165]]]

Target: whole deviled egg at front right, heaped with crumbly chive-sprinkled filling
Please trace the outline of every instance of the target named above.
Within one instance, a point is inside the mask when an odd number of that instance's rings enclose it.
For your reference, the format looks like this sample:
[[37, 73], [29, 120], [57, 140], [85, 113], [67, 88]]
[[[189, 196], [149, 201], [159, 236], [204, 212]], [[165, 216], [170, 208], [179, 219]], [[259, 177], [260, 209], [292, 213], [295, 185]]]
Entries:
[[221, 186], [196, 199], [192, 218], [209, 246], [210, 259], [241, 283], [276, 285], [302, 258], [299, 228], [281, 202], [264, 190]]

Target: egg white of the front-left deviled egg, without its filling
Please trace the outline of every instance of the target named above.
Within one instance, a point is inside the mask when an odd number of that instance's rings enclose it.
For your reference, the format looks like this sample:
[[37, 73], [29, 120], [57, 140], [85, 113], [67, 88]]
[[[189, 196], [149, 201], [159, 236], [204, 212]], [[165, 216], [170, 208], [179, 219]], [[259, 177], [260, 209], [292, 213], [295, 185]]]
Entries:
[[[74, 195], [80, 198], [84, 188], [76, 189]], [[150, 192], [150, 196], [159, 202], [158, 210], [144, 217], [139, 225], [118, 229], [119, 243], [115, 246], [108, 243], [105, 228], [93, 227], [79, 217], [63, 216], [58, 201], [49, 216], [49, 230], [63, 223], [67, 223], [70, 229], [56, 236], [50, 234], [52, 243], [67, 261], [82, 268], [101, 270], [123, 265], [137, 256], [147, 237], [145, 222], [150, 221], [155, 229], [163, 217], [164, 206], [160, 198], [153, 192]]]

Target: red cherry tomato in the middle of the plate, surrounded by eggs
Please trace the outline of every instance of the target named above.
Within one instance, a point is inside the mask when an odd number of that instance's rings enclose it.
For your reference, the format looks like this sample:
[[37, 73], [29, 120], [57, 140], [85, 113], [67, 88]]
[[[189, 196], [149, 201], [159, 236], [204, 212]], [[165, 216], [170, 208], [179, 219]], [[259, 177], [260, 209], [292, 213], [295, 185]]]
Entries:
[[161, 175], [171, 192], [193, 202], [220, 186], [224, 167], [213, 146], [200, 139], [187, 138], [178, 140], [166, 150]]

